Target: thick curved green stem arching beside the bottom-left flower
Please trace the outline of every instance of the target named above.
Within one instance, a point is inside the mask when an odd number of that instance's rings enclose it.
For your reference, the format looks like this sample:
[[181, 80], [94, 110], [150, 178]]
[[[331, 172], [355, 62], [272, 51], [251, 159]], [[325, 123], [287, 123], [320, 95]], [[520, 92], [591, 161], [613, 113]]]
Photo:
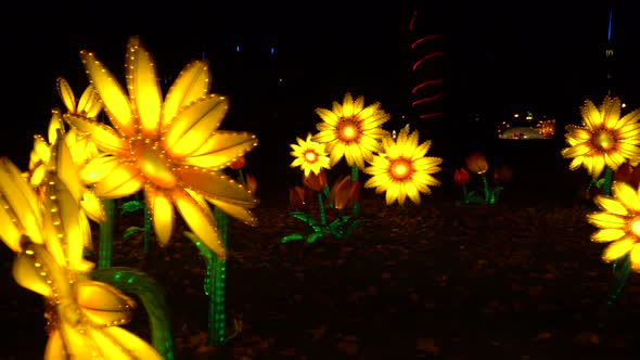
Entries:
[[125, 267], [93, 270], [90, 277], [124, 293], [133, 294], [140, 299], [149, 314], [153, 347], [163, 359], [172, 360], [174, 339], [171, 338], [169, 308], [164, 292], [153, 278], [138, 269]]

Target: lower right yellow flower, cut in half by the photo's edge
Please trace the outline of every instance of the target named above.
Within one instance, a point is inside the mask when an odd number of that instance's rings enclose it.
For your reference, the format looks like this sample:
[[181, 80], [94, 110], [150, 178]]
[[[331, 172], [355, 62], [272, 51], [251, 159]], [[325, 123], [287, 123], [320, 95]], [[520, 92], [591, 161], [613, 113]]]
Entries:
[[640, 272], [640, 191], [625, 182], [614, 182], [613, 196], [598, 195], [594, 203], [602, 211], [587, 215], [587, 220], [600, 228], [591, 241], [610, 244], [602, 255], [606, 262], [627, 254], [631, 268]]

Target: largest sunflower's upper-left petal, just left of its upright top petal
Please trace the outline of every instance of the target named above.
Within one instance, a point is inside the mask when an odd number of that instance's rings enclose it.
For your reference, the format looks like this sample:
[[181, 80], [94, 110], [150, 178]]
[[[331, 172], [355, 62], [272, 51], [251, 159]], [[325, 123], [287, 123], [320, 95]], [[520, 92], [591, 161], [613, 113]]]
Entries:
[[127, 94], [123, 91], [116, 77], [98, 61], [93, 53], [81, 51], [80, 57], [91, 83], [104, 103], [111, 123], [120, 133], [129, 137], [135, 136], [138, 132], [136, 118], [131, 113]]

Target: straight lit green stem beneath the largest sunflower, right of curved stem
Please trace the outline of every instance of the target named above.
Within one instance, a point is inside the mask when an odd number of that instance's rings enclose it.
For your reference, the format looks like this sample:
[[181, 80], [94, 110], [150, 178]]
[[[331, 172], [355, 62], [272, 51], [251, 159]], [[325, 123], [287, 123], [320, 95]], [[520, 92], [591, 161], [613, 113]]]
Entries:
[[[229, 217], [219, 208], [214, 208], [214, 217], [218, 226], [218, 234], [222, 245], [227, 248], [229, 236]], [[222, 345], [226, 339], [225, 316], [225, 281], [227, 279], [227, 261], [212, 256], [207, 260], [207, 277], [209, 278], [209, 344]]]

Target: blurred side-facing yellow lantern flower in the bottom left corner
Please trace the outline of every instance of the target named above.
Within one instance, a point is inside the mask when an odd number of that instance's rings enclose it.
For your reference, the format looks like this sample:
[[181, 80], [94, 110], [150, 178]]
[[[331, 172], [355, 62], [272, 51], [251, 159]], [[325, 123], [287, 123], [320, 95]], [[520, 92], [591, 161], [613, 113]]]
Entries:
[[[69, 198], [49, 188], [48, 196]], [[13, 277], [46, 298], [49, 342], [44, 359], [161, 359], [144, 340], [118, 327], [135, 307], [115, 287], [87, 275], [93, 263], [82, 259], [86, 240], [66, 239], [72, 210], [44, 204], [18, 168], [0, 158], [0, 239], [17, 254]], [[75, 207], [79, 210], [79, 207]]]

